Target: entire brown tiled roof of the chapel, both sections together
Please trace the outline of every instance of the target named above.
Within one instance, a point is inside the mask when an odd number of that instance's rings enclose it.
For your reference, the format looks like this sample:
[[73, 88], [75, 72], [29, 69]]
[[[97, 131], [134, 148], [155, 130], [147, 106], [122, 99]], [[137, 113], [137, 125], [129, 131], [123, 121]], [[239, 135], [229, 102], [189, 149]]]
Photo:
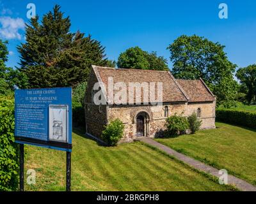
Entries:
[[[129, 103], [129, 86], [130, 83], [139, 82], [140, 84], [146, 82], [150, 87], [150, 82], [155, 83], [155, 99], [157, 99], [157, 82], [163, 83], [163, 102], [204, 102], [214, 101], [214, 95], [209, 88], [204, 84], [202, 79], [200, 80], [175, 80], [170, 71], [156, 71], [145, 69], [117, 69], [106, 68], [100, 66], [93, 66], [93, 71], [97, 76], [99, 82], [104, 85], [103, 89], [105, 95], [108, 96], [109, 78], [113, 78], [113, 84], [117, 82], [124, 82], [127, 87], [127, 103]], [[114, 90], [116, 92], [120, 90]], [[134, 103], [136, 102], [134, 89]], [[148, 93], [150, 95], [150, 93]], [[141, 89], [141, 102], [143, 102], [143, 89]], [[144, 102], [148, 99], [144, 99]], [[149, 100], [148, 100], [149, 101]], [[147, 101], [147, 102], [148, 102]], [[109, 102], [109, 101], [108, 101]], [[150, 101], [149, 101], [150, 102]], [[161, 101], [157, 101], [161, 102]]]

